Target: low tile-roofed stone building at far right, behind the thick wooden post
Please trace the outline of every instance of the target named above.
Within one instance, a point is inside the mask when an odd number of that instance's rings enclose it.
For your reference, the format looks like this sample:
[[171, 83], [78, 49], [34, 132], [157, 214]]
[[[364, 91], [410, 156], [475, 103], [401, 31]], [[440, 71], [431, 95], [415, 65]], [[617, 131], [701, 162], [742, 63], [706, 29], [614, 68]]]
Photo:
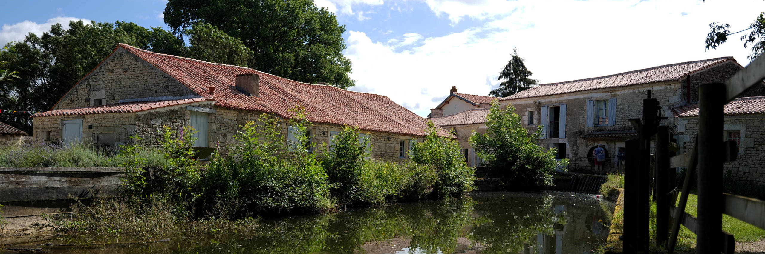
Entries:
[[[680, 151], [690, 153], [698, 133], [698, 104], [675, 109]], [[724, 107], [724, 140], [738, 145], [736, 161], [725, 162], [737, 181], [765, 183], [765, 96], [734, 99]]]

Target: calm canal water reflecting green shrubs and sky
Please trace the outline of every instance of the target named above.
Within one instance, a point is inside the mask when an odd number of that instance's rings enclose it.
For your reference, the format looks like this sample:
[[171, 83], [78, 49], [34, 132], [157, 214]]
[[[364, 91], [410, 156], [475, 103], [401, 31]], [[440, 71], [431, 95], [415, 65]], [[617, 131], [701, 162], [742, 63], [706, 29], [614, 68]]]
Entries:
[[263, 218], [256, 232], [49, 253], [593, 253], [614, 204], [558, 191], [473, 193], [337, 213]]

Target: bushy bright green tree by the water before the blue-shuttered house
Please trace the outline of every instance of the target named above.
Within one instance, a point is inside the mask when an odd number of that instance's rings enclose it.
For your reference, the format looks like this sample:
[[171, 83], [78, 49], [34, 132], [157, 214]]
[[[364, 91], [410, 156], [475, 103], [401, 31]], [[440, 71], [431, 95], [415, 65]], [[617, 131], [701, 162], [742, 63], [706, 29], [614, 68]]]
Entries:
[[555, 161], [555, 148], [545, 151], [537, 145], [542, 127], [529, 134], [515, 110], [511, 105], [503, 109], [500, 103], [493, 103], [486, 118], [487, 132], [474, 132], [470, 143], [489, 170], [503, 178], [506, 187], [550, 186], [552, 172], [568, 161]]

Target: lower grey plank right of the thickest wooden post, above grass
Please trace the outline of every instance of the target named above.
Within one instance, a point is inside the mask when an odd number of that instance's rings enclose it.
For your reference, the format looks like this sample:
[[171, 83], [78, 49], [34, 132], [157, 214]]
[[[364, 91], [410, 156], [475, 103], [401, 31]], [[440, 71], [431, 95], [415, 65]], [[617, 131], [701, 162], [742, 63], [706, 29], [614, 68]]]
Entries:
[[765, 229], [765, 201], [724, 193], [723, 204], [723, 213]]

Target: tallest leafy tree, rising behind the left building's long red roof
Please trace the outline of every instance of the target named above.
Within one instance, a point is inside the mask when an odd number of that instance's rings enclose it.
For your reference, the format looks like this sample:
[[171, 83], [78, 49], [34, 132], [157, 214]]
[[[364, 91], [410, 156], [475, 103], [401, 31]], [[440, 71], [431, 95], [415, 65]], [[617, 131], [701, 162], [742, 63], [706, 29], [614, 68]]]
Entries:
[[170, 0], [164, 22], [183, 34], [197, 22], [237, 37], [253, 51], [249, 67], [306, 83], [354, 86], [343, 56], [345, 26], [311, 0]]

